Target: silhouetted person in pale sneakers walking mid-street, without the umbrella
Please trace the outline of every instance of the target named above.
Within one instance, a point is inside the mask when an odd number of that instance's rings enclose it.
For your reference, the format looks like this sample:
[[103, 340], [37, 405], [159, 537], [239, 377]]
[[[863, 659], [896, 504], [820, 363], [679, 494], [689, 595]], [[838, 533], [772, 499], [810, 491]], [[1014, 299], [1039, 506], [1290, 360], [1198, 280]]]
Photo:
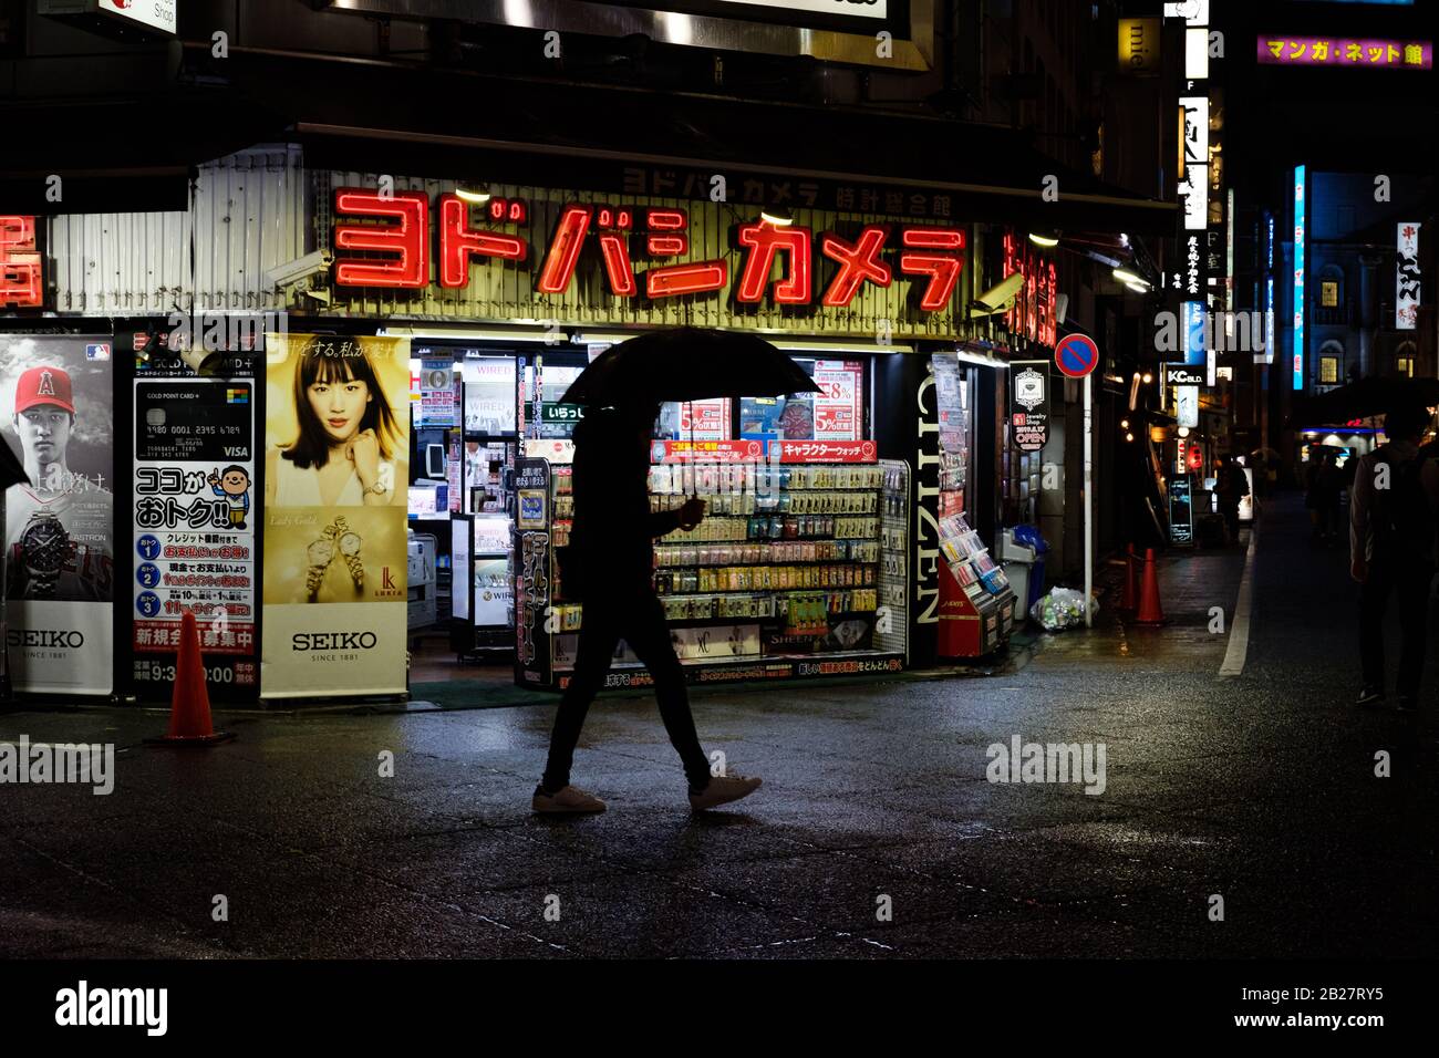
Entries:
[[709, 774], [689, 713], [685, 674], [655, 594], [655, 537], [692, 530], [705, 515], [699, 498], [678, 511], [650, 511], [649, 445], [658, 413], [655, 406], [590, 409], [574, 432], [574, 523], [560, 583], [567, 599], [583, 602], [580, 645], [554, 720], [550, 760], [535, 787], [535, 812], [604, 810], [603, 800], [570, 785], [570, 766], [586, 713], [622, 638], [655, 679], [659, 715], [689, 780], [691, 808], [738, 800], [760, 786], [758, 779]]

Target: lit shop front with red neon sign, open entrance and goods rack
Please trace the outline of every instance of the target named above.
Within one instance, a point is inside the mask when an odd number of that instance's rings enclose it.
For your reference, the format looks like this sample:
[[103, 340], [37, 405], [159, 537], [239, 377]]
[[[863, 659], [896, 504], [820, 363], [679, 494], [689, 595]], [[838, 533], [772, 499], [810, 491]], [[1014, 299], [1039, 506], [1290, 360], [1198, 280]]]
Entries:
[[[409, 512], [449, 570], [439, 590], [456, 655], [502, 646], [518, 684], [568, 682], [583, 607], [554, 550], [568, 538], [584, 409], [560, 397], [604, 348], [698, 325], [766, 334], [819, 392], [662, 409], [652, 502], [708, 499], [695, 531], [655, 543], [686, 672], [773, 679], [932, 658], [938, 481], [921, 492], [912, 468], [937, 478], [925, 380], [930, 354], [955, 348], [973, 239], [944, 196], [790, 181], [774, 206], [767, 184], [751, 204], [682, 180], [671, 194], [648, 180], [630, 193], [401, 177], [378, 189], [357, 173], [330, 183], [322, 314], [410, 341]], [[826, 194], [850, 209], [826, 209]], [[945, 436], [961, 423], [947, 419]], [[646, 681], [622, 645], [612, 685]]]

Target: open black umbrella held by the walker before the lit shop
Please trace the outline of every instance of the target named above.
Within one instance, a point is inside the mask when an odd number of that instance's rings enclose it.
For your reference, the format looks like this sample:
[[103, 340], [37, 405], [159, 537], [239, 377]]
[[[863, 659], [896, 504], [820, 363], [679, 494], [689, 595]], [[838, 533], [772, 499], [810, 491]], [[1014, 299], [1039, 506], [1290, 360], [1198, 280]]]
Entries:
[[758, 335], [676, 327], [604, 350], [560, 400], [603, 407], [817, 390], [799, 364]]

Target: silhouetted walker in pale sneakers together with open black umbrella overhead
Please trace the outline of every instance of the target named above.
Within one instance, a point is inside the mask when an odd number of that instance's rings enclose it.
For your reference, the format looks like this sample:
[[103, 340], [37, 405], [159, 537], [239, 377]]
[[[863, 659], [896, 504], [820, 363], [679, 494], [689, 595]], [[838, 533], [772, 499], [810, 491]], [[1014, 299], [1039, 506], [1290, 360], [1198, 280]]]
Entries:
[[570, 769], [590, 702], [622, 638], [655, 679], [659, 715], [689, 783], [689, 806], [696, 812], [715, 808], [760, 787], [755, 777], [709, 774], [699, 746], [685, 674], [652, 576], [655, 537], [695, 528], [705, 504], [691, 497], [678, 511], [650, 511], [650, 438], [662, 400], [813, 389], [789, 357], [760, 338], [681, 328], [607, 350], [566, 392], [566, 403], [583, 403], [587, 410], [574, 432], [574, 523], [560, 559], [560, 583], [584, 612], [574, 674], [560, 698], [550, 756], [531, 802], [535, 812], [604, 810], [603, 800], [570, 785]]

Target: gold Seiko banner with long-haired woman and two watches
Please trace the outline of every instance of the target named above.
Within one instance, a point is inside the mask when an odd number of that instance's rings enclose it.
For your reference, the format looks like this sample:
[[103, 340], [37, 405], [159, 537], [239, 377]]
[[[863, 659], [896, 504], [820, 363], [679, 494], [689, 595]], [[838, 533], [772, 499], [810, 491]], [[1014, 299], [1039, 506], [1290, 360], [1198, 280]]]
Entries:
[[260, 697], [406, 688], [409, 340], [266, 341]]

